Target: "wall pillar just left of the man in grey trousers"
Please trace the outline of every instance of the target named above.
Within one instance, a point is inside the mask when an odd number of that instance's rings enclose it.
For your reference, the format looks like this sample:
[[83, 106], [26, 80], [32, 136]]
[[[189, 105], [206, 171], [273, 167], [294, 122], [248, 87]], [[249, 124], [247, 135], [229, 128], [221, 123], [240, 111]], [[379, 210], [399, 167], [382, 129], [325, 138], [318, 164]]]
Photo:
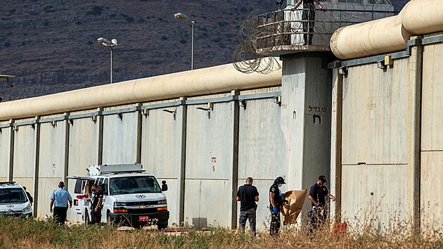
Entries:
[[[239, 91], [231, 91], [232, 96], [238, 96]], [[234, 98], [231, 102], [232, 106], [232, 198], [231, 198], [231, 228], [237, 227], [237, 191], [238, 191], [238, 129], [239, 129], [239, 117], [240, 106], [238, 100]]]

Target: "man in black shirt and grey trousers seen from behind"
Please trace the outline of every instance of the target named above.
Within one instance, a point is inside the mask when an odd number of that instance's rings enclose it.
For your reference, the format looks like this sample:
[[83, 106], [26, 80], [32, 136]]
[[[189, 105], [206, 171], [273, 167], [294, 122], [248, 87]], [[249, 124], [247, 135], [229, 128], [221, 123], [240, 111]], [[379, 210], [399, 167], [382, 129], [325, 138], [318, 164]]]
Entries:
[[237, 192], [237, 201], [240, 201], [240, 217], [238, 217], [238, 223], [240, 224], [240, 229], [245, 230], [246, 219], [249, 220], [249, 226], [252, 233], [257, 233], [255, 230], [256, 224], [256, 211], [257, 203], [259, 200], [259, 193], [255, 186], [252, 186], [252, 177], [246, 179], [246, 184], [240, 186]]

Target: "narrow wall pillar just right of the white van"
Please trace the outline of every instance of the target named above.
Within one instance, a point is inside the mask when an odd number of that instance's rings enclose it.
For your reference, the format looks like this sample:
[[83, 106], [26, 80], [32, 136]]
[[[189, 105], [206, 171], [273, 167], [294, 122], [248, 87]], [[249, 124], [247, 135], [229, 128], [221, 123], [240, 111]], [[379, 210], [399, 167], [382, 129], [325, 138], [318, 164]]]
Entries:
[[185, 191], [185, 172], [186, 172], [186, 117], [187, 106], [186, 98], [180, 98], [181, 104], [177, 106], [177, 113], [181, 113], [181, 151], [179, 166], [179, 224], [184, 224], [184, 191]]

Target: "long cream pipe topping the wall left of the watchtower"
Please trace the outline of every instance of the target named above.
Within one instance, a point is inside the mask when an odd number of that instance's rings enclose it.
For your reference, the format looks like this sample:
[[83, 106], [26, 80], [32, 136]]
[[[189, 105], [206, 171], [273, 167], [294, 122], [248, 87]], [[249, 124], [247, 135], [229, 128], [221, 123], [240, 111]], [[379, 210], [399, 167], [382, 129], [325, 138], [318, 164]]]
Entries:
[[245, 74], [233, 64], [0, 103], [0, 120], [281, 85], [281, 68]]

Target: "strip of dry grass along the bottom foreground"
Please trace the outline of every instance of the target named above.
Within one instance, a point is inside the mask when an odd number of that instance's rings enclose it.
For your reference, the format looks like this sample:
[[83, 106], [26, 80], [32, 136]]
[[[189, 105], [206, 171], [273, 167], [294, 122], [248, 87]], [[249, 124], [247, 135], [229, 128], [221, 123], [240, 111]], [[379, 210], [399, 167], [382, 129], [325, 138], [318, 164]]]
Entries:
[[[366, 229], [371, 231], [371, 229]], [[442, 237], [425, 238], [405, 233], [384, 236], [364, 233], [337, 236], [325, 227], [305, 234], [299, 229], [284, 229], [279, 238], [267, 232], [257, 237], [237, 230], [216, 228], [167, 234], [146, 230], [118, 231], [110, 226], [82, 225], [60, 227], [49, 221], [0, 217], [0, 248], [443, 248]]]

